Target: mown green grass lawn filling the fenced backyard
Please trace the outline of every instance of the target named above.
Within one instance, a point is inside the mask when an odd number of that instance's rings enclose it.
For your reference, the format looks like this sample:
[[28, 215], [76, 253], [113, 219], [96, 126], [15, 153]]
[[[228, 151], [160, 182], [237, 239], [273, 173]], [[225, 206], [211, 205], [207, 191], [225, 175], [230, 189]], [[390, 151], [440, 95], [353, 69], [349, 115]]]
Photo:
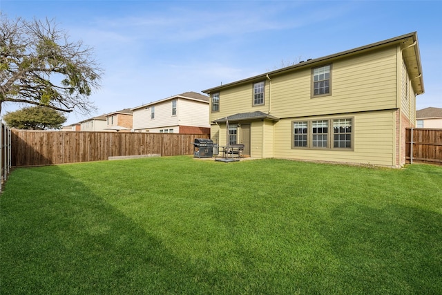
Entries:
[[1, 294], [442, 294], [442, 167], [21, 168], [0, 237]]

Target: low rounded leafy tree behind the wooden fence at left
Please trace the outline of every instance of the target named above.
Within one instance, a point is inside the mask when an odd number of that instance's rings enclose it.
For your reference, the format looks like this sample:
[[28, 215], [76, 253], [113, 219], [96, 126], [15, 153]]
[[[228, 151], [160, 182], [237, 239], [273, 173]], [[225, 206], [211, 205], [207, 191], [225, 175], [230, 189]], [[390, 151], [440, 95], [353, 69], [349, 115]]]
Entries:
[[6, 113], [3, 120], [10, 128], [44, 130], [60, 129], [66, 122], [66, 117], [53, 108], [30, 106]]

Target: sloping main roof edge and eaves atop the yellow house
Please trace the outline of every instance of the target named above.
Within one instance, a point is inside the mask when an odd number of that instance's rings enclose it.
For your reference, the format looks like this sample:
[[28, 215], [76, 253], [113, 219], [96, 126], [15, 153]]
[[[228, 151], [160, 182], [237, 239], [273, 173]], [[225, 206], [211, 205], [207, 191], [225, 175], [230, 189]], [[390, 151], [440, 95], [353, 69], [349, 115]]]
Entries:
[[239, 84], [258, 82], [262, 79], [271, 79], [272, 75], [280, 75], [283, 73], [298, 70], [299, 68], [316, 66], [316, 64], [322, 64], [326, 61], [329, 62], [329, 61], [332, 61], [333, 59], [338, 59], [338, 58], [349, 56], [349, 55], [367, 52], [369, 50], [381, 48], [383, 46], [390, 46], [392, 44], [400, 44], [401, 45], [403, 59], [405, 60], [405, 64], [407, 64], [407, 70], [410, 75], [410, 79], [412, 80], [412, 86], [414, 88], [414, 91], [417, 94], [422, 94], [424, 92], [424, 88], [423, 88], [421, 55], [419, 53], [419, 43], [417, 40], [417, 32], [410, 32], [408, 34], [394, 37], [392, 39], [379, 41], [379, 42], [369, 44], [366, 46], [361, 46], [361, 47], [354, 48], [354, 49], [347, 50], [347, 51], [343, 51], [340, 53], [335, 53], [333, 55], [327, 55], [325, 57], [319, 57], [316, 59], [307, 59], [307, 61], [300, 61], [298, 64], [295, 64], [293, 66], [287, 66], [286, 68], [280, 68], [278, 70], [273, 70], [271, 72], [267, 72], [267, 73], [264, 73], [261, 75], [249, 77], [247, 79], [242, 79], [242, 80], [239, 80], [236, 82], [231, 82], [229, 84], [216, 86], [213, 88], [206, 89], [202, 92], [210, 94], [210, 93], [218, 92], [221, 89], [229, 88], [231, 86], [236, 86]]

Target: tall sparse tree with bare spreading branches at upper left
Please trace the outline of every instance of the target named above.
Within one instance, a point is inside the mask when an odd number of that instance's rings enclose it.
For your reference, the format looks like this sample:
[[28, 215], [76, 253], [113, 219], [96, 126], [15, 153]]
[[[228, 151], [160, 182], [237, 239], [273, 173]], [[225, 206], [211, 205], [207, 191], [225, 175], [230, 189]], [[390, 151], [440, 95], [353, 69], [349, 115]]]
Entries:
[[54, 20], [10, 20], [0, 12], [0, 111], [3, 102], [95, 110], [89, 96], [102, 69], [92, 54], [81, 41], [69, 41]]

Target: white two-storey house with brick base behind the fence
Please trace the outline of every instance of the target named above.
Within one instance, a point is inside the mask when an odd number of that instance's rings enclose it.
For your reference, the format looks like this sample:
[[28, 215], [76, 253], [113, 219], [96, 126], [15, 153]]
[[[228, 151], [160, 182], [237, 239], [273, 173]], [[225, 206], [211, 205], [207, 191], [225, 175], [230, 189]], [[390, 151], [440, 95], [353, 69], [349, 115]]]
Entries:
[[209, 134], [209, 97], [186, 92], [132, 108], [135, 132]]

